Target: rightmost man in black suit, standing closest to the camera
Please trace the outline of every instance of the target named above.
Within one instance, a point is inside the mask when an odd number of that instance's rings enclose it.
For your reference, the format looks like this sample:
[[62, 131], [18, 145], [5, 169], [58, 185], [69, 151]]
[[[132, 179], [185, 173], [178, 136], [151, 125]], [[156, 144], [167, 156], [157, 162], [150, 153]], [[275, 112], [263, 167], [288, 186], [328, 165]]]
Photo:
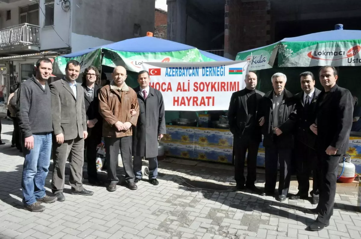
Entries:
[[323, 66], [319, 80], [323, 90], [318, 95], [315, 109], [315, 123], [310, 126], [317, 134], [317, 180], [319, 180], [319, 202], [317, 208], [307, 209], [318, 214], [308, 230], [319, 231], [330, 223], [336, 194], [338, 164], [348, 149], [352, 126], [353, 99], [349, 90], [336, 84], [337, 70]]

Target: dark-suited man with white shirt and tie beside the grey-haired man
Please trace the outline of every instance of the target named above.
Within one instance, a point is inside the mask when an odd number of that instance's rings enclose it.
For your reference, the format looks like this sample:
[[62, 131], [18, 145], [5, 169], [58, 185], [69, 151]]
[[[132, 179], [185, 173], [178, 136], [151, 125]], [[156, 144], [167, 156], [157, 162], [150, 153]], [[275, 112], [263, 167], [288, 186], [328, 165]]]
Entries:
[[290, 199], [308, 199], [308, 190], [310, 187], [309, 177], [313, 171], [313, 183], [311, 194], [311, 203], [318, 203], [318, 187], [316, 180], [317, 155], [314, 150], [316, 135], [310, 130], [313, 123], [313, 112], [316, 106], [316, 100], [321, 90], [315, 88], [315, 78], [312, 72], [306, 71], [300, 74], [302, 91], [296, 94], [296, 131], [295, 131], [295, 165], [298, 181], [298, 193], [290, 196]]

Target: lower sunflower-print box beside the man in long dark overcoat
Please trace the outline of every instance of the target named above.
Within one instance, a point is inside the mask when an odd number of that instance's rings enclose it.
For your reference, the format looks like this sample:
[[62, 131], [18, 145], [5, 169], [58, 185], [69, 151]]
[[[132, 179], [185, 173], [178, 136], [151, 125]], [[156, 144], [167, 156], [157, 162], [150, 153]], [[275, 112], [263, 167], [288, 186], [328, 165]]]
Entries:
[[164, 146], [166, 156], [175, 156], [185, 159], [194, 159], [194, 144], [189, 142], [160, 141]]

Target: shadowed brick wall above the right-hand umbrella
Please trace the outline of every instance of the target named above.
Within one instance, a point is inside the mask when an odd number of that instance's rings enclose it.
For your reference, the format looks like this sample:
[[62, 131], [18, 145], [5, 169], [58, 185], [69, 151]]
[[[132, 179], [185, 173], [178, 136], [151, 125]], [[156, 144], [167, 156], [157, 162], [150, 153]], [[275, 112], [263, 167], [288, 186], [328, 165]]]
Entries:
[[235, 57], [238, 52], [270, 44], [269, 0], [230, 0], [228, 9], [227, 53]]

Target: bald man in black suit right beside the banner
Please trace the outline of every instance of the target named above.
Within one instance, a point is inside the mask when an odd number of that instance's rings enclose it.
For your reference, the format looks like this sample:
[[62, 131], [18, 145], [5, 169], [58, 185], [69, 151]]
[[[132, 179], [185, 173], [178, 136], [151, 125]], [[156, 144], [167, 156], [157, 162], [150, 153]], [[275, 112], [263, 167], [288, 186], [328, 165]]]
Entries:
[[[261, 128], [256, 119], [258, 103], [265, 95], [256, 90], [257, 75], [249, 72], [245, 76], [246, 87], [234, 92], [228, 110], [229, 127], [233, 134], [234, 179], [236, 189], [245, 187], [259, 192], [255, 186], [258, 147], [262, 141]], [[244, 178], [244, 161], [247, 155], [247, 181]]]

